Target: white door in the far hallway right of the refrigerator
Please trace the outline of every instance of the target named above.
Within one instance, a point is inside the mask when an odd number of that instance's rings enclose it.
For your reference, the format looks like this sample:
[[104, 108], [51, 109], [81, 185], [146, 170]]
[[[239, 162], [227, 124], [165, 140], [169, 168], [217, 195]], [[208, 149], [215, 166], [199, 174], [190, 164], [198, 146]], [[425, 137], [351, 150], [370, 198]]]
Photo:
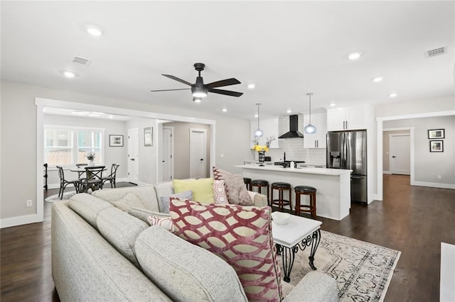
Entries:
[[410, 135], [389, 136], [390, 173], [411, 174]]

